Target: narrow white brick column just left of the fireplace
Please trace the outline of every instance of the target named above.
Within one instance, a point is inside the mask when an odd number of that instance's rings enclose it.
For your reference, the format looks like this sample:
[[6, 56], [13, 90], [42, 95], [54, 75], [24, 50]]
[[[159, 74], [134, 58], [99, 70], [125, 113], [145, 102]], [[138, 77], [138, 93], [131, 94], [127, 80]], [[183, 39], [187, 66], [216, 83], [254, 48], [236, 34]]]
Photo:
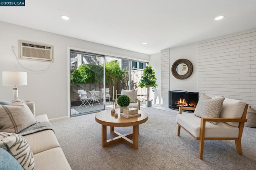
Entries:
[[161, 50], [161, 97], [164, 107], [168, 107], [168, 91], [170, 87], [169, 49]]

